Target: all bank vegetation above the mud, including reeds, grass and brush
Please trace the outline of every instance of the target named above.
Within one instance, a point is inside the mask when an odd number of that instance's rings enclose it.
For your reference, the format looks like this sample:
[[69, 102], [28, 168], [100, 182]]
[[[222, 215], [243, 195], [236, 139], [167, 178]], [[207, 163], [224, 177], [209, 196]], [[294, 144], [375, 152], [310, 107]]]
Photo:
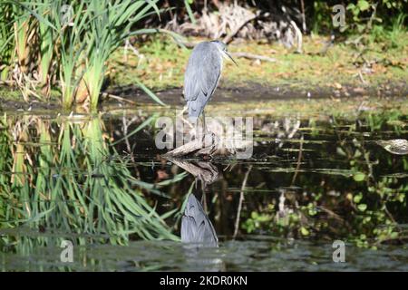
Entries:
[[53, 94], [66, 109], [95, 109], [106, 88], [134, 84], [161, 103], [151, 91], [180, 87], [189, 47], [208, 38], [229, 43], [238, 58], [238, 68], [225, 73], [230, 87], [289, 83], [341, 91], [344, 84], [406, 82], [406, 1], [353, 1], [341, 26], [333, 22], [335, 4], [4, 1], [2, 91], [18, 90], [16, 101], [49, 102]]

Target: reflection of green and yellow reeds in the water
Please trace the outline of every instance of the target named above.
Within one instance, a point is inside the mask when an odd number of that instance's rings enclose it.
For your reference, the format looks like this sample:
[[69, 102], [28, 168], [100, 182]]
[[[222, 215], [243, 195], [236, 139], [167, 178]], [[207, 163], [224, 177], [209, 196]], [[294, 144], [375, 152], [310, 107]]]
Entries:
[[143, 198], [144, 183], [103, 139], [99, 117], [62, 121], [58, 136], [52, 127], [39, 118], [16, 121], [13, 145], [12, 134], [0, 131], [0, 227], [102, 234], [112, 244], [177, 238]]

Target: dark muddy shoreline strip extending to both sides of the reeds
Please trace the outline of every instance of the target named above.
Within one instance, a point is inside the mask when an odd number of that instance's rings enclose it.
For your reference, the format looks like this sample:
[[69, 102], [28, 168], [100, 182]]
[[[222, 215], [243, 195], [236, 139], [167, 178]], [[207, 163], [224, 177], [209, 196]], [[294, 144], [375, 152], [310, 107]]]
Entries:
[[[61, 110], [58, 100], [42, 102], [33, 100], [24, 102], [17, 97], [7, 96], [7, 88], [1, 88], [0, 110], [2, 111], [54, 111]], [[10, 94], [15, 94], [11, 92]], [[160, 100], [167, 105], [183, 105], [182, 88], [170, 88], [156, 92]], [[240, 85], [221, 83], [215, 92], [211, 103], [215, 102], [267, 102], [273, 100], [317, 100], [317, 99], [349, 99], [354, 97], [393, 97], [406, 98], [408, 96], [407, 82], [385, 82], [380, 85], [355, 86], [335, 83], [331, 86], [310, 86], [302, 83], [265, 85], [256, 82], [245, 82]], [[119, 98], [117, 98], [119, 97]], [[118, 86], [108, 89], [101, 98], [101, 107], [104, 104], [125, 104], [137, 106], [155, 104], [148, 94], [137, 85]]]

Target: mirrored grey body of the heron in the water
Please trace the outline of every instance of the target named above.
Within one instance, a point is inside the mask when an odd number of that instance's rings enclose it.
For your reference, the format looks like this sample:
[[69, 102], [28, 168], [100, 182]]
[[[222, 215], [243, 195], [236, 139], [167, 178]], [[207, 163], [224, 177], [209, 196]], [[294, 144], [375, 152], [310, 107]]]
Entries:
[[205, 247], [219, 247], [216, 231], [194, 194], [189, 195], [181, 219], [181, 242], [196, 243]]

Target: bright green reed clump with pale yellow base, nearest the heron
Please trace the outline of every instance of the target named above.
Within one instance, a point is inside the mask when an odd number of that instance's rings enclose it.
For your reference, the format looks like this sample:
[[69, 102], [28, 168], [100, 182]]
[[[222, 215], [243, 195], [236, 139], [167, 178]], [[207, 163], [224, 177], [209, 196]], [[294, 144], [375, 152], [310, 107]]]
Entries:
[[[159, 14], [157, 2], [74, 1], [65, 11], [73, 12], [68, 18], [61, 14], [62, 1], [53, 5], [53, 18], [47, 25], [55, 27], [61, 42], [64, 107], [87, 101], [96, 108], [109, 57], [124, 39], [135, 33], [131, 31], [133, 25], [152, 13]], [[44, 24], [43, 19], [39, 21]]]

